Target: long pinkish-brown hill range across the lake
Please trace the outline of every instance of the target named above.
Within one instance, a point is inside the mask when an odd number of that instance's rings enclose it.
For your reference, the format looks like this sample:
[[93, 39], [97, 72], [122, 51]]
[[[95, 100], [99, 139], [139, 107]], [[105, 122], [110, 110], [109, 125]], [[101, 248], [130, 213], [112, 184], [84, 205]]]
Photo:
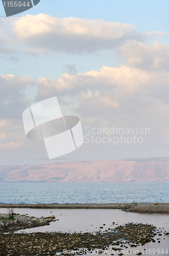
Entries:
[[0, 182], [169, 182], [169, 157], [0, 166]]

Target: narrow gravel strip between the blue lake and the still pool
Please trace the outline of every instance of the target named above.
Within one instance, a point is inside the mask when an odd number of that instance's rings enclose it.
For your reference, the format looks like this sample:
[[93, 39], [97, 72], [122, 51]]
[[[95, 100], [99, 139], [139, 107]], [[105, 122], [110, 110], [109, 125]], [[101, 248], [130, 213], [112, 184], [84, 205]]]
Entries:
[[100, 204], [0, 204], [0, 208], [33, 209], [121, 209], [130, 212], [169, 214], [169, 203], [100, 203]]

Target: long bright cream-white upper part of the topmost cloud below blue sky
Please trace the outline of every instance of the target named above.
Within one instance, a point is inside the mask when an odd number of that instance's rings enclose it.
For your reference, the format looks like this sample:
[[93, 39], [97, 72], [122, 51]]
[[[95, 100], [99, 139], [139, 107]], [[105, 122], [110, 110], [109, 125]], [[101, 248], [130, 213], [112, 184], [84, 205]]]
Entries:
[[104, 22], [103, 20], [87, 20], [74, 17], [57, 18], [47, 14], [22, 16], [14, 23], [14, 32], [25, 40], [44, 34], [65, 34], [90, 36], [91, 38], [117, 39], [126, 33], [133, 32], [131, 24]]

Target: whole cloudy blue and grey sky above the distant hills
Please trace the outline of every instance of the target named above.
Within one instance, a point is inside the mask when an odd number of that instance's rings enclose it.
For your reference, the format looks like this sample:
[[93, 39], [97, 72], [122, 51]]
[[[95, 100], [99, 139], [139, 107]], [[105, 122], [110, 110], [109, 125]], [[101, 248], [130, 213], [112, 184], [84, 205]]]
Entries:
[[[168, 7], [41, 0], [6, 17], [1, 4], [0, 165], [168, 156]], [[80, 118], [84, 143], [45, 160], [22, 113], [53, 96]]]

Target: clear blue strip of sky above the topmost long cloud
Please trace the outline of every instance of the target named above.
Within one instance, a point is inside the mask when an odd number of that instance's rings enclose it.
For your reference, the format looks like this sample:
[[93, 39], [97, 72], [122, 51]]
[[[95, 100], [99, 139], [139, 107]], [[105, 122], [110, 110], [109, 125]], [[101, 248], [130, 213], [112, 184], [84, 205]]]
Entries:
[[[46, 13], [55, 17], [79, 17], [86, 19], [104, 19], [111, 22], [132, 23], [137, 25], [139, 31], [168, 29], [168, 1], [55, 1], [50, 4], [41, 0], [34, 8], [22, 13]], [[1, 8], [2, 16], [5, 11]], [[19, 16], [19, 15], [16, 15]], [[142, 27], [142, 29], [139, 29]]]

